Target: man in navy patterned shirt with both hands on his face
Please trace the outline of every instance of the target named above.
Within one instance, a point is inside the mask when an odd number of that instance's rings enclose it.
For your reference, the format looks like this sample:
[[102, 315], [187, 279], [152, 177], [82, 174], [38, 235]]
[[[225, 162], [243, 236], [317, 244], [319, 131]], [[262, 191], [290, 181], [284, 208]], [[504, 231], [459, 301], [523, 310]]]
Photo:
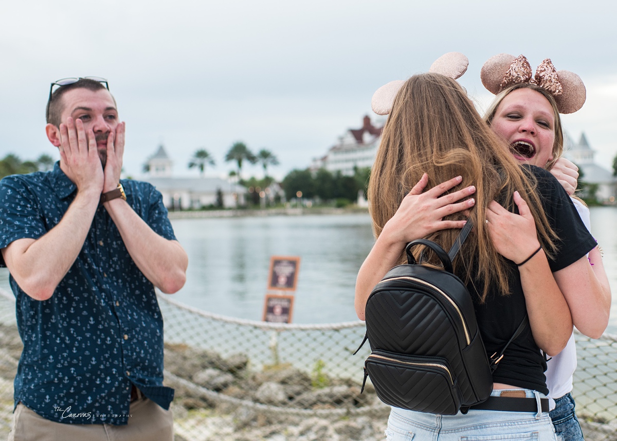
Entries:
[[24, 343], [10, 437], [171, 440], [154, 287], [180, 290], [188, 258], [159, 191], [120, 180], [125, 123], [107, 80], [52, 90], [60, 161], [0, 182], [0, 264]]

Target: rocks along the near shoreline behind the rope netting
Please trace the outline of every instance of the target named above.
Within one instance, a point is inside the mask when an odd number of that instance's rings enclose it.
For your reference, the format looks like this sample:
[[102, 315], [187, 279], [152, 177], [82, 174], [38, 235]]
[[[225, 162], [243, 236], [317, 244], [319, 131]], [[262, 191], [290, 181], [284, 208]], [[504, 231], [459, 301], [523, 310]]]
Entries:
[[[12, 382], [22, 347], [17, 327], [0, 324], [2, 439], [12, 421]], [[336, 412], [340, 406], [357, 409], [375, 403], [372, 388], [360, 395], [358, 385], [349, 380], [315, 385], [309, 374], [286, 364], [254, 372], [248, 363], [241, 354], [223, 359], [210, 351], [165, 344], [165, 384], [176, 390], [172, 403], [176, 441], [384, 439], [387, 407], [377, 406], [365, 414]]]

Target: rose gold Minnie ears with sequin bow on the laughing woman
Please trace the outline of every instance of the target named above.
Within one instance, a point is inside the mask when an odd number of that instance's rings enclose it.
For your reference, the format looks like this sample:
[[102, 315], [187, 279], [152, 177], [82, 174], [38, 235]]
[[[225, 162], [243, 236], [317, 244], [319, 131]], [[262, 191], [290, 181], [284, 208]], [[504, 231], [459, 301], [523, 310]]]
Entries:
[[514, 84], [540, 86], [555, 98], [561, 114], [578, 111], [587, 98], [581, 77], [568, 70], [555, 70], [549, 58], [542, 61], [533, 75], [531, 65], [524, 56], [495, 55], [482, 66], [480, 78], [484, 87], [495, 95]]

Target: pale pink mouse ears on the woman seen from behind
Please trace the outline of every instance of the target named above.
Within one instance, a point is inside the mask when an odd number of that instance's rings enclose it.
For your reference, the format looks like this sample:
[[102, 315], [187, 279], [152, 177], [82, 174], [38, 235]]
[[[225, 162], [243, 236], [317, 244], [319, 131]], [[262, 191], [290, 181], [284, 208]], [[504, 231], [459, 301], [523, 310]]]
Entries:
[[[469, 60], [460, 52], [448, 52], [431, 65], [429, 72], [441, 73], [441, 75], [456, 80], [465, 73], [468, 65]], [[392, 104], [394, 104], [394, 98], [396, 98], [396, 94], [399, 93], [404, 83], [404, 80], [395, 80], [376, 90], [373, 94], [373, 99], [371, 99], [373, 112], [378, 115], [389, 114], [392, 110]]]

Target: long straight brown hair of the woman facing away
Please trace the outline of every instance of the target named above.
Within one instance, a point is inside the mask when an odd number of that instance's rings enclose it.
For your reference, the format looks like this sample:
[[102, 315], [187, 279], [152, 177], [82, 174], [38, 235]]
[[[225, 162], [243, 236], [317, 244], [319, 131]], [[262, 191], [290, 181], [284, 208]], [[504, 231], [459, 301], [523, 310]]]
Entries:
[[[455, 259], [453, 266], [466, 282], [479, 282], [481, 301], [494, 284], [503, 294], [509, 292], [509, 266], [492, 245], [484, 223], [492, 200], [512, 211], [511, 196], [518, 190], [536, 219], [545, 252], [550, 256], [555, 251], [557, 236], [534, 191], [534, 178], [511, 157], [508, 146], [482, 120], [463, 88], [452, 78], [437, 73], [409, 78], [397, 94], [384, 126], [368, 184], [376, 237], [425, 172], [426, 190], [458, 175], [463, 180], [457, 188], [476, 186], [476, 204], [470, 211], [474, 230], [459, 254], [466, 258]], [[446, 219], [465, 219], [465, 215], [452, 214]], [[449, 250], [458, 233], [441, 230], [427, 238]], [[417, 258], [420, 250], [415, 253]], [[475, 274], [471, 274], [472, 261], [477, 264]], [[428, 262], [437, 263], [431, 253]]]

